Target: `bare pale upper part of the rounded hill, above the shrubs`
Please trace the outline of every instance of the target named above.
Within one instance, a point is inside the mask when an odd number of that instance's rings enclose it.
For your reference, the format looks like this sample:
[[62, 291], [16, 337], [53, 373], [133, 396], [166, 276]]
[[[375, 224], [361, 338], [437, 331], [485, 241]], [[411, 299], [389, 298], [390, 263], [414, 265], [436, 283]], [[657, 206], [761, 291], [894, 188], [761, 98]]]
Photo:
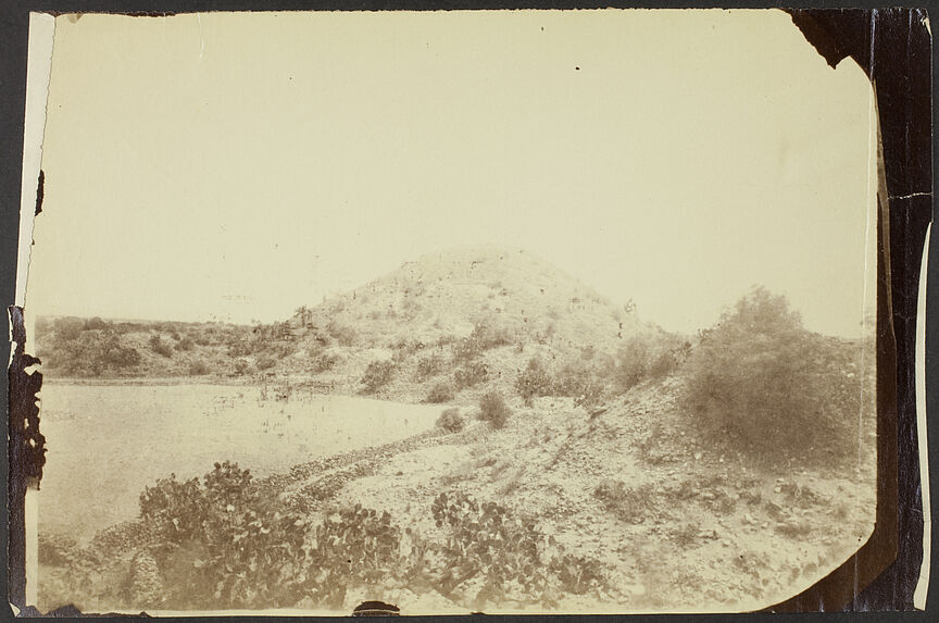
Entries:
[[642, 328], [623, 306], [556, 266], [501, 247], [424, 256], [311, 311], [313, 326], [350, 328], [358, 344], [371, 347], [402, 338], [434, 344], [492, 323], [516, 341], [605, 349]]

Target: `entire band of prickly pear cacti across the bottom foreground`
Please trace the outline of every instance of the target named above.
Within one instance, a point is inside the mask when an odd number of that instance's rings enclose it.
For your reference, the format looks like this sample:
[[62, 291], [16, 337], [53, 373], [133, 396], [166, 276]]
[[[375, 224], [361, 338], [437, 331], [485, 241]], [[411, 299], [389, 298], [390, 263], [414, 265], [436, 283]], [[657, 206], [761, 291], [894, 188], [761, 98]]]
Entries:
[[201, 479], [147, 487], [139, 522], [104, 531], [93, 550], [47, 540], [40, 556], [67, 570], [70, 599], [132, 608], [339, 609], [347, 590], [383, 585], [458, 602], [550, 606], [609, 586], [597, 561], [565, 552], [531, 519], [494, 502], [439, 495], [430, 514], [445, 534], [433, 539], [401, 529], [387, 511], [315, 510], [322, 519], [291, 510], [237, 464], [216, 463]]

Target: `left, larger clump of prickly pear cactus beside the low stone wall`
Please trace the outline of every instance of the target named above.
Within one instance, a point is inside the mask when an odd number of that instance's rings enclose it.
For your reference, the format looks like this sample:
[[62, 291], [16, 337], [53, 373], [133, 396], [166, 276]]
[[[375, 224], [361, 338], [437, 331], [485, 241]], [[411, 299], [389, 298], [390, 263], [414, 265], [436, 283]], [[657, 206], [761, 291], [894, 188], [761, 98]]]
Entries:
[[287, 607], [301, 598], [338, 608], [346, 589], [397, 568], [399, 528], [361, 506], [311, 525], [260, 494], [237, 464], [200, 482], [159, 481], [140, 496], [150, 548], [176, 607]]

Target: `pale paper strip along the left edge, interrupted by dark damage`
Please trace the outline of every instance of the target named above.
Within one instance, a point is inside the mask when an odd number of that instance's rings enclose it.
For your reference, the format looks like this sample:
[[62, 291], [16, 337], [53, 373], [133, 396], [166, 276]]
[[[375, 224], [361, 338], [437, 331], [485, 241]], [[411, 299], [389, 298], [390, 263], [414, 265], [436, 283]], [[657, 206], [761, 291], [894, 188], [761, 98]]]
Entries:
[[[26, 60], [26, 104], [23, 122], [23, 172], [20, 187], [20, 237], [16, 259], [15, 304], [21, 309], [26, 301], [26, 282], [33, 250], [33, 227], [36, 221], [36, 199], [39, 172], [42, 164], [42, 138], [46, 129], [46, 110], [49, 80], [52, 71], [52, 45], [55, 18], [47, 13], [29, 13], [28, 52]], [[24, 314], [25, 316], [25, 314]], [[33, 317], [25, 316], [26, 340], [33, 332]], [[12, 337], [12, 326], [10, 327]], [[25, 346], [25, 345], [24, 345]], [[11, 360], [13, 357], [11, 349]], [[9, 363], [8, 363], [9, 366]], [[36, 603], [38, 596], [38, 491], [30, 487], [24, 500], [26, 524], [26, 603]]]

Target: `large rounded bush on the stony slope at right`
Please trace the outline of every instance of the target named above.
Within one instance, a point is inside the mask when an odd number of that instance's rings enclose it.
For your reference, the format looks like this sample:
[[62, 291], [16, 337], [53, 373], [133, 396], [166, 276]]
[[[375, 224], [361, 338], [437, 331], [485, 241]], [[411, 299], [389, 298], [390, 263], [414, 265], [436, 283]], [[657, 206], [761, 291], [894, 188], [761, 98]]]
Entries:
[[785, 297], [758, 288], [702, 333], [685, 403], [715, 443], [765, 461], [831, 464], [856, 452], [857, 414], [873, 413], [862, 409], [874, 388], [862, 348], [805, 331]]

